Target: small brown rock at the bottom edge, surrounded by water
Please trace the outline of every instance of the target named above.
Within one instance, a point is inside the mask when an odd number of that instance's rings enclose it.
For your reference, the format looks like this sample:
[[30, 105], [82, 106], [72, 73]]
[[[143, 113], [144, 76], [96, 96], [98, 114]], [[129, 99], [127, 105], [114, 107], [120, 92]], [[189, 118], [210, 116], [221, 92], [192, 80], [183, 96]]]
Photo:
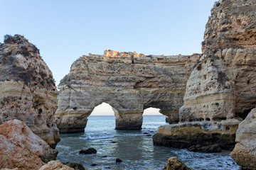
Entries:
[[178, 160], [176, 157], [170, 157], [166, 165], [164, 166], [163, 170], [191, 170], [191, 169], [188, 168], [186, 164]]

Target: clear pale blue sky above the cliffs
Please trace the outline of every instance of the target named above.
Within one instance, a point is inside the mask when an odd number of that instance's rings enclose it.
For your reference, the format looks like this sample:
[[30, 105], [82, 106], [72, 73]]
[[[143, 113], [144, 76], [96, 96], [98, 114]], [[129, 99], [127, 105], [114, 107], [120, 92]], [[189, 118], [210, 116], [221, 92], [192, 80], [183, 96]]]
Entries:
[[0, 0], [0, 42], [24, 35], [58, 85], [71, 64], [104, 50], [145, 55], [201, 53], [215, 0]]

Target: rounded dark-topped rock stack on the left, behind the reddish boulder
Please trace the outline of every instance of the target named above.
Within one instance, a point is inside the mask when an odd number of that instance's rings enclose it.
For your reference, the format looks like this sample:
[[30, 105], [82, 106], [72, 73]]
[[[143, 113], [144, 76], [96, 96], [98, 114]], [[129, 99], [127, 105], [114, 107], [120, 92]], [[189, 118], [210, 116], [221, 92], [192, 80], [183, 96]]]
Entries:
[[54, 148], [59, 141], [53, 124], [58, 92], [38, 48], [21, 35], [6, 35], [0, 70], [0, 124], [22, 120]]

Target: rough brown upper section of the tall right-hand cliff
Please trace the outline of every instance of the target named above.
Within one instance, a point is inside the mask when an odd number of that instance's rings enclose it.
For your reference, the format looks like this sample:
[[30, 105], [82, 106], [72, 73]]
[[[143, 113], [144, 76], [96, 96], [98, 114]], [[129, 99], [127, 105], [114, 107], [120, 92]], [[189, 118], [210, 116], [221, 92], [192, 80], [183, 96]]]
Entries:
[[202, 52], [225, 48], [256, 49], [256, 1], [215, 2], [206, 24]]

